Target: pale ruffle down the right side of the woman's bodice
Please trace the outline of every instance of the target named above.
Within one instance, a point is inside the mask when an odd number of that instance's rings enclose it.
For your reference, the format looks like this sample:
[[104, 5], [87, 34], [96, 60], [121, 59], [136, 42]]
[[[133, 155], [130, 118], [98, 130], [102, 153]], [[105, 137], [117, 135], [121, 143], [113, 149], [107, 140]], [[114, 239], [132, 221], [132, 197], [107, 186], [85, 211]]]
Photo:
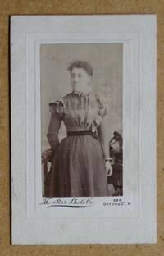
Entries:
[[98, 126], [100, 125], [103, 117], [107, 113], [107, 102], [100, 94], [96, 94], [96, 100], [98, 102], [98, 117], [93, 121], [92, 131], [96, 132]]

